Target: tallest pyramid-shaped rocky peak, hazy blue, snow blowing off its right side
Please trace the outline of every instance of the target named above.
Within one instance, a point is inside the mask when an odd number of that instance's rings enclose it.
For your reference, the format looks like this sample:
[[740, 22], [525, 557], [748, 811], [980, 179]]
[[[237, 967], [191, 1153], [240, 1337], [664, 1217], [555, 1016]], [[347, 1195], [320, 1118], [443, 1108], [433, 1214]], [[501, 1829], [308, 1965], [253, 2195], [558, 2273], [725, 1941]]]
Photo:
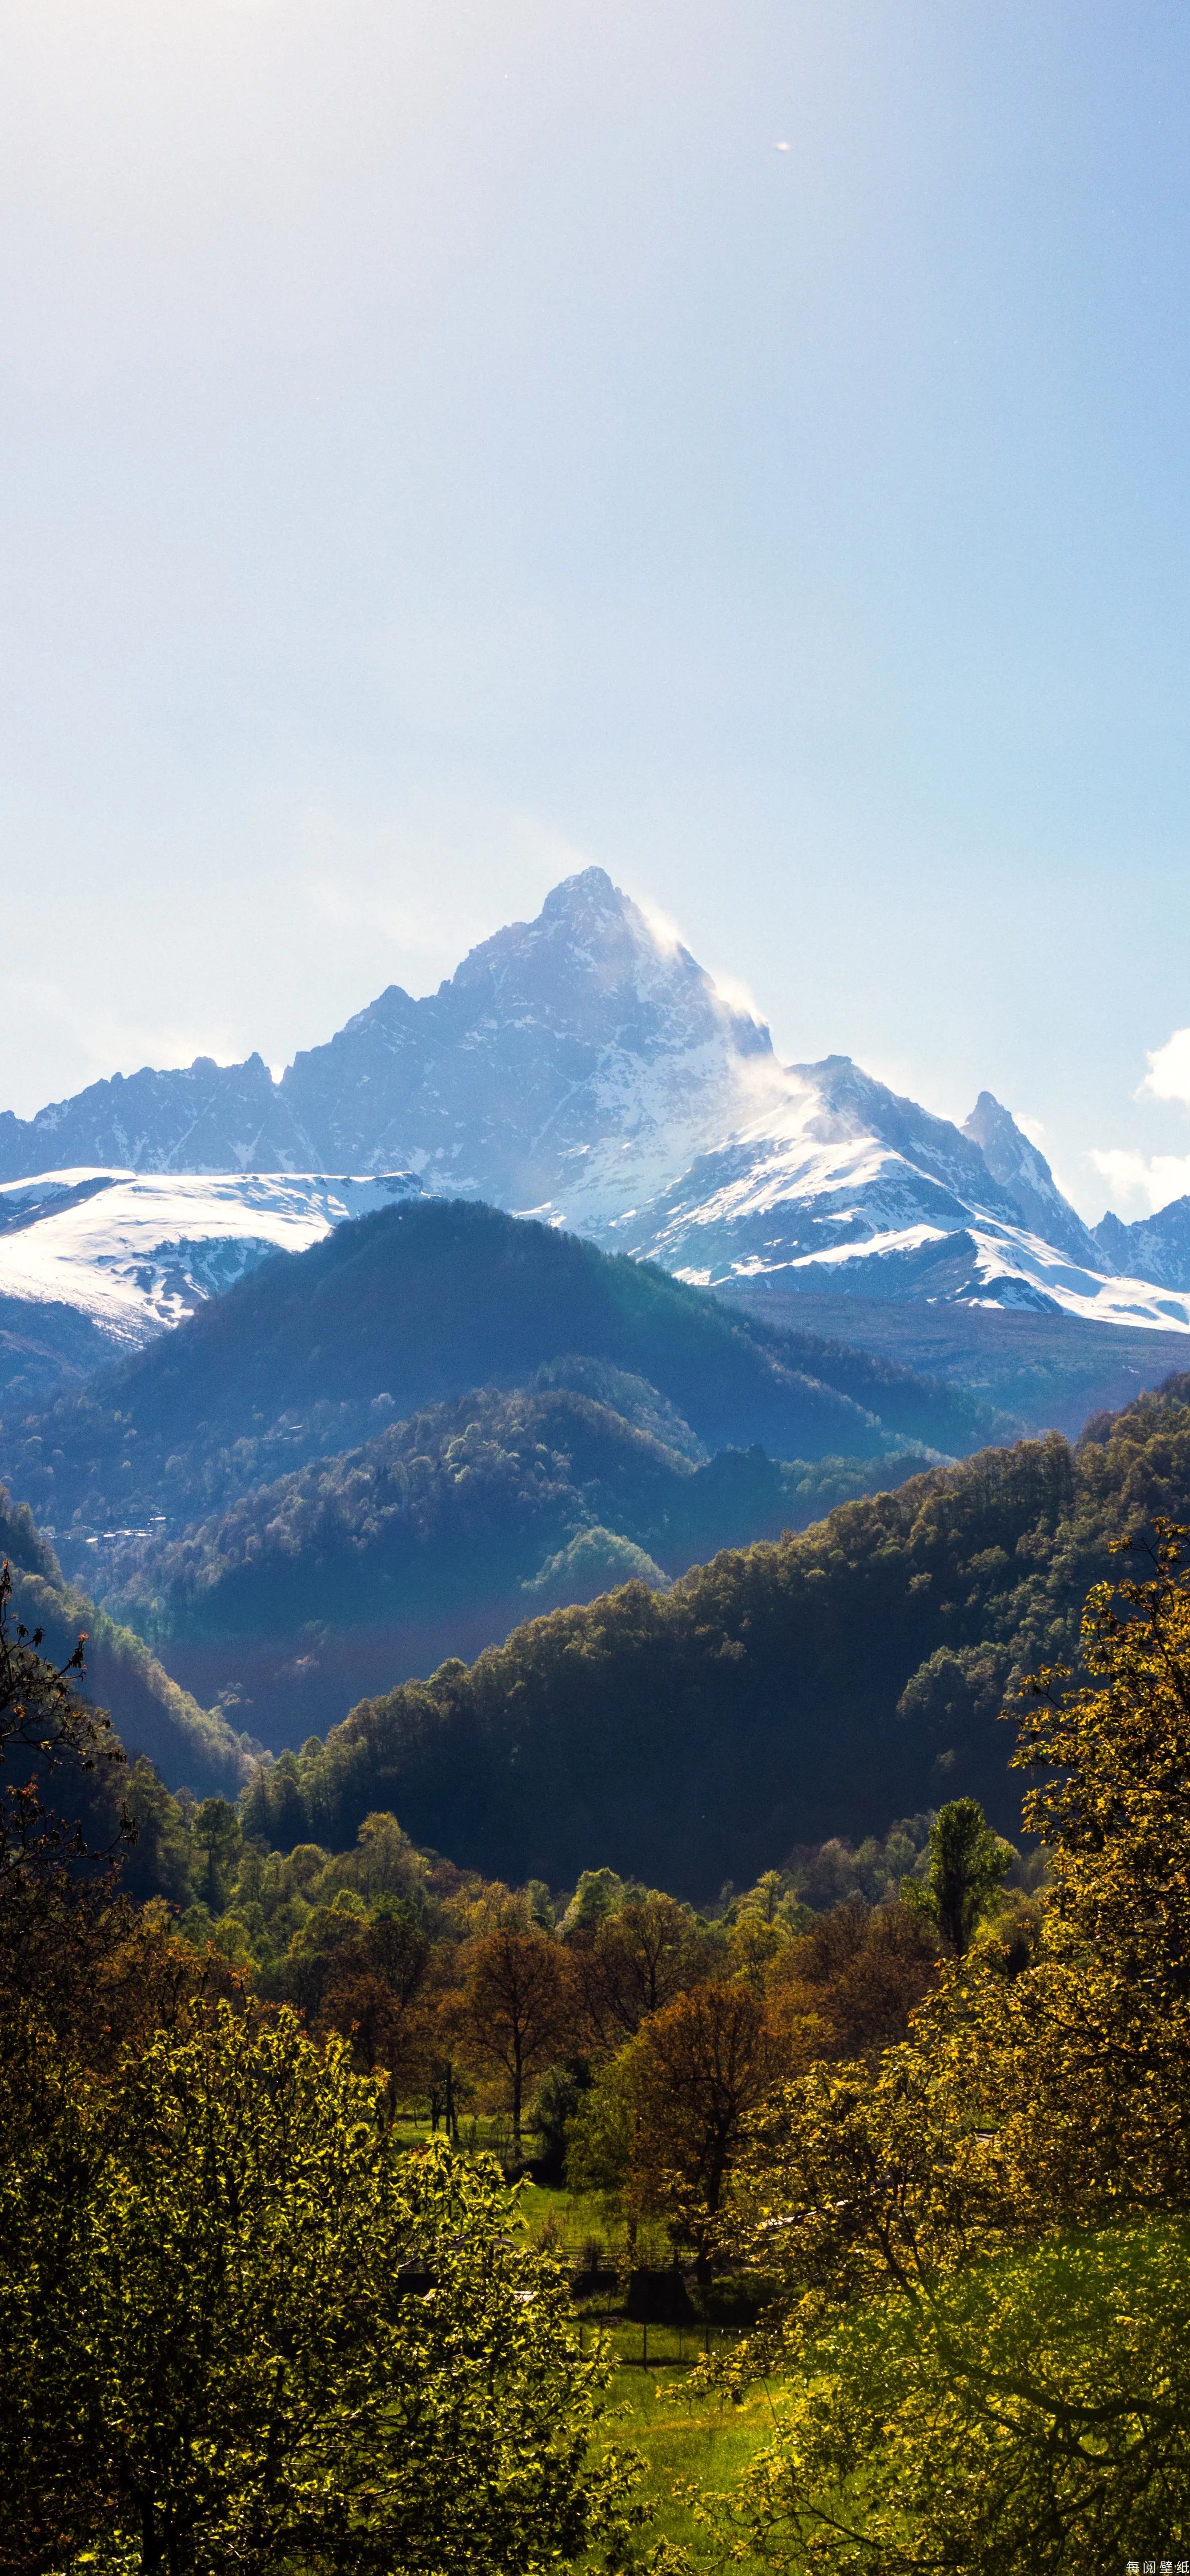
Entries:
[[768, 1028], [585, 868], [428, 999], [389, 987], [281, 1095], [322, 1167], [410, 1164], [587, 1226], [737, 1126], [757, 1077], [778, 1077]]

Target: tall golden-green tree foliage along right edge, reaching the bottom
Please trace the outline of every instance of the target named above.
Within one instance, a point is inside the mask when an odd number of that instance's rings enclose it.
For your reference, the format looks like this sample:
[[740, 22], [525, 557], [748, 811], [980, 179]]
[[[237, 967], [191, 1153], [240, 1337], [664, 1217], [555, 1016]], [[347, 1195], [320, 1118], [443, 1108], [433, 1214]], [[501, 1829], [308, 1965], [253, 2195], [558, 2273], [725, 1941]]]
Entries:
[[1023, 1963], [956, 1958], [878, 2066], [768, 2107], [739, 2197], [791, 2403], [762, 2563], [1082, 2576], [1190, 2527], [1190, 1582], [1095, 1587], [1015, 1762], [1051, 1850]]

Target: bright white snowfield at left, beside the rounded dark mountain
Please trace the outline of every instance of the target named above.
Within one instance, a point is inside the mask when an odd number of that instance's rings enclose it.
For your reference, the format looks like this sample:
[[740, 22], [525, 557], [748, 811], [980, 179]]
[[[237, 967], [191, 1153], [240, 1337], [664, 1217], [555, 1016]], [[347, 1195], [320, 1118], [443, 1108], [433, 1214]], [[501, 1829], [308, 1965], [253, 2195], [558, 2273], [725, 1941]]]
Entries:
[[75, 1306], [139, 1347], [270, 1252], [420, 1195], [412, 1172], [41, 1172], [0, 1185], [0, 1296]]

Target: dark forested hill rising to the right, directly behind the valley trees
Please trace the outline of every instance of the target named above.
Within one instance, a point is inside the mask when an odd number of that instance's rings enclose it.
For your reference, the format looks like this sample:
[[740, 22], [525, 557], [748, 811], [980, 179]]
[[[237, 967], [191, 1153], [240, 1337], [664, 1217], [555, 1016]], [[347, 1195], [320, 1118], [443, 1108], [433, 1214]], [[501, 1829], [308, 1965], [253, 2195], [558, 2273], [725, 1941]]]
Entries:
[[1190, 1376], [1087, 1427], [847, 1502], [518, 1628], [368, 1700], [258, 1777], [270, 1842], [343, 1847], [373, 1808], [510, 1880], [592, 1862], [706, 1899], [824, 1834], [979, 1795], [1020, 1829], [999, 1708], [1072, 1656], [1108, 1540], [1190, 1520]]

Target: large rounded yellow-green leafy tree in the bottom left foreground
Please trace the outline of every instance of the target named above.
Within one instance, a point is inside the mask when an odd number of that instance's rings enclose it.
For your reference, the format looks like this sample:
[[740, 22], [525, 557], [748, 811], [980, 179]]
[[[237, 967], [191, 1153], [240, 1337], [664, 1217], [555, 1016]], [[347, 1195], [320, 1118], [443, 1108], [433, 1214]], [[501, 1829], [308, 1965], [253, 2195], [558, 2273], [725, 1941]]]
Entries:
[[44, 2174], [31, 2197], [5, 2172], [0, 2478], [26, 2532], [152, 2576], [531, 2576], [618, 2550], [603, 2365], [495, 2169], [402, 2156], [376, 2087], [291, 2014], [222, 2009], [100, 2099], [59, 2092], [70, 2228]]

